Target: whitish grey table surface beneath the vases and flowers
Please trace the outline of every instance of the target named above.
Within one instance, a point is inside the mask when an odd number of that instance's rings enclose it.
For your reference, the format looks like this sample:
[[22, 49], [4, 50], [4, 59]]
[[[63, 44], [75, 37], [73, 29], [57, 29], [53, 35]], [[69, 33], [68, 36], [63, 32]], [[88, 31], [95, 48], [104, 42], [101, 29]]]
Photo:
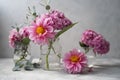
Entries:
[[12, 71], [12, 59], [0, 59], [0, 80], [120, 80], [120, 60], [102, 59], [101, 66], [88, 74], [67, 74], [61, 71]]

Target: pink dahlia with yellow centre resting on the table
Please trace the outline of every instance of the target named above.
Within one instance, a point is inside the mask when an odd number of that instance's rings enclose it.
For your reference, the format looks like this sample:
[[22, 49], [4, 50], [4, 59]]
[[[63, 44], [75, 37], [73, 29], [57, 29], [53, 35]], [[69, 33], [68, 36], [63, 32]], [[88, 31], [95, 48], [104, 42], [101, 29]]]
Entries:
[[64, 68], [68, 73], [81, 73], [87, 66], [87, 57], [77, 49], [65, 54], [63, 58]]

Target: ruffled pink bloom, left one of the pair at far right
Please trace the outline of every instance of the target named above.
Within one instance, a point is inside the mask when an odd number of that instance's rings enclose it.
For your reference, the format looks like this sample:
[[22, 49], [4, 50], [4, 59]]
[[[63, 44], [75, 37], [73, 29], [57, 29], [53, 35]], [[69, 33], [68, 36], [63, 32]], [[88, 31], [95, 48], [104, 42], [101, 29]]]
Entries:
[[86, 30], [82, 34], [81, 42], [84, 43], [87, 46], [93, 47], [93, 39], [97, 37], [99, 34], [97, 34], [93, 30]]

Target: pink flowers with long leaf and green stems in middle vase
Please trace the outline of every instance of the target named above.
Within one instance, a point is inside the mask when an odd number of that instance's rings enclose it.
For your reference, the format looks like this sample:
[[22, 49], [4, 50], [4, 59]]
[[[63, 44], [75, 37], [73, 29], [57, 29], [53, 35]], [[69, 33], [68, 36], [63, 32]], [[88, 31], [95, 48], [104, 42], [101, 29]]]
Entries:
[[[51, 10], [36, 17], [32, 25], [29, 26], [30, 40], [40, 46], [48, 45], [48, 52], [46, 54], [47, 69], [49, 69], [48, 57], [51, 49], [56, 54], [52, 44], [62, 33], [72, 28], [75, 24], [66, 18], [64, 13]], [[57, 56], [60, 58], [60, 55]]]

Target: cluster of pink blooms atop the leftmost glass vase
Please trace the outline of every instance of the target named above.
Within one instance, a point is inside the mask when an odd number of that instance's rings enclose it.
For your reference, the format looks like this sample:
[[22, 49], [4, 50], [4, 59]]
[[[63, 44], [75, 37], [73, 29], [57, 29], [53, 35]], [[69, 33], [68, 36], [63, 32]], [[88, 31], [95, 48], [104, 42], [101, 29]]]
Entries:
[[[13, 29], [11, 30], [9, 35], [9, 44], [13, 48], [18, 42], [24, 45], [28, 45], [30, 41], [28, 37], [29, 37], [28, 27], [23, 27], [21, 29], [19, 28]], [[26, 43], [25, 40], [28, 40], [28, 42]]]

